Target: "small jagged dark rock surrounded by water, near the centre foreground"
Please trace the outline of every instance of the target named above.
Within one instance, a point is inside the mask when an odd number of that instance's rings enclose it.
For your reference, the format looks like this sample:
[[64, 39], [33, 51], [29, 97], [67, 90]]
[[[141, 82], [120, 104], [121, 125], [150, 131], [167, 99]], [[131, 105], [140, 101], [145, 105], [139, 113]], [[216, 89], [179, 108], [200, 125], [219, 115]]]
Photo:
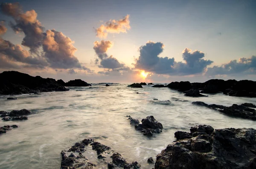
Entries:
[[148, 116], [145, 119], [139, 120], [132, 118], [131, 116], [128, 120], [130, 120], [130, 124], [135, 127], [136, 130], [141, 131], [143, 135], [153, 136], [154, 133], [161, 133], [163, 129], [163, 125], [154, 118], [154, 116]]

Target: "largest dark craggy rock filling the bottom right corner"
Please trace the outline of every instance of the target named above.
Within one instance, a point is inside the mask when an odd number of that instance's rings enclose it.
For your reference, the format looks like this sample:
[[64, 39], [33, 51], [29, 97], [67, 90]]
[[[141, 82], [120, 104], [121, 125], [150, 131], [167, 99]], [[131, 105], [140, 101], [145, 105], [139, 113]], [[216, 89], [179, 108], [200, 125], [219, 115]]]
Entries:
[[254, 169], [255, 129], [216, 129], [200, 125], [191, 138], [169, 144], [157, 155], [155, 169]]

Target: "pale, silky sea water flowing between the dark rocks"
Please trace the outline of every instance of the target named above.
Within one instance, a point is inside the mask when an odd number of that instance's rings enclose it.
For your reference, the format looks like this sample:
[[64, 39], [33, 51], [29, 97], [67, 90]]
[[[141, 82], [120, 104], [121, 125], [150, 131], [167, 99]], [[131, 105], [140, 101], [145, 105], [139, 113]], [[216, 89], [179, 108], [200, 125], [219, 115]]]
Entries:
[[[0, 110], [36, 112], [26, 121], [0, 120], [0, 126], [19, 126], [0, 135], [0, 169], [59, 169], [61, 151], [84, 138], [94, 138], [119, 152], [129, 163], [137, 161], [143, 169], [148, 169], [154, 164], [149, 165], [147, 159], [153, 157], [155, 160], [156, 155], [175, 140], [177, 130], [189, 132], [191, 126], [198, 124], [208, 124], [215, 129], [256, 129], [256, 121], [192, 105], [192, 101], [224, 106], [256, 104], [256, 98], [223, 94], [193, 98], [168, 88], [129, 88], [127, 85], [114, 83], [106, 87], [104, 83], [70, 87], [67, 92], [18, 95], [15, 96], [17, 100], [0, 96]], [[163, 132], [145, 137], [130, 125], [126, 115], [139, 120], [153, 115], [163, 124]]]

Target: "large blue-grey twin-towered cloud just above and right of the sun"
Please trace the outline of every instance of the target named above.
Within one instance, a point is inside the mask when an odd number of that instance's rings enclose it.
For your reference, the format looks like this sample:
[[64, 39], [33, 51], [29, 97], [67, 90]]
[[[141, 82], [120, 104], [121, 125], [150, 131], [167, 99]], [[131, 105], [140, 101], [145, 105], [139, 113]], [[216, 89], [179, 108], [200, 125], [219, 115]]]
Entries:
[[140, 46], [140, 56], [135, 59], [134, 67], [157, 74], [189, 75], [204, 72], [212, 63], [211, 60], [203, 59], [203, 52], [192, 52], [188, 48], [182, 53], [184, 62], [176, 62], [174, 57], [159, 57], [163, 49], [163, 43], [148, 41], [146, 45]]

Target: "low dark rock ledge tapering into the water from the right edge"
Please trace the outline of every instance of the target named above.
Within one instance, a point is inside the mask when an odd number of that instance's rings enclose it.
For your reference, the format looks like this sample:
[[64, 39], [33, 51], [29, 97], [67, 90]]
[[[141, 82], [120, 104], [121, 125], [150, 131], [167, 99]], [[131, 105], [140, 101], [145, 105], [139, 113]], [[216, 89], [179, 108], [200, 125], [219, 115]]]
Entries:
[[[255, 106], [252, 103], [244, 103], [241, 105], [233, 104], [232, 106], [222, 106], [216, 104], [206, 104], [201, 101], [192, 102], [194, 105], [205, 106], [209, 109], [214, 109], [232, 117], [240, 117], [244, 119], [256, 120], [256, 110], [249, 108], [249, 106]], [[247, 105], [247, 106], [245, 106]]]

